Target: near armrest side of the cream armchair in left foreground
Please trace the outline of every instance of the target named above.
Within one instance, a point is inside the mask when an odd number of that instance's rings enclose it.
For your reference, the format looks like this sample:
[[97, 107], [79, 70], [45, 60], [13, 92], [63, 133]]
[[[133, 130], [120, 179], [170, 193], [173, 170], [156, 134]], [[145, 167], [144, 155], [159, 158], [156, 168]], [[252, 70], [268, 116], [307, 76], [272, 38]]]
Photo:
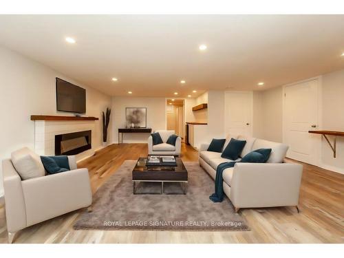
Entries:
[[87, 169], [22, 181], [27, 226], [92, 204]]

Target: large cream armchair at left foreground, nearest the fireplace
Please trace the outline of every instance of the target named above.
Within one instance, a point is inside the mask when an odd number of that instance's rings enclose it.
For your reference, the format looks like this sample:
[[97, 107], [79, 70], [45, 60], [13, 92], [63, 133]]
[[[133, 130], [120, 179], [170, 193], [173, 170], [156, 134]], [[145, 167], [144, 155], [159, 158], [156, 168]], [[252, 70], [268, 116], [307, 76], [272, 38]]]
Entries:
[[68, 162], [70, 171], [21, 180], [11, 159], [3, 160], [9, 243], [23, 228], [92, 204], [88, 170], [77, 169], [75, 156], [68, 156]]

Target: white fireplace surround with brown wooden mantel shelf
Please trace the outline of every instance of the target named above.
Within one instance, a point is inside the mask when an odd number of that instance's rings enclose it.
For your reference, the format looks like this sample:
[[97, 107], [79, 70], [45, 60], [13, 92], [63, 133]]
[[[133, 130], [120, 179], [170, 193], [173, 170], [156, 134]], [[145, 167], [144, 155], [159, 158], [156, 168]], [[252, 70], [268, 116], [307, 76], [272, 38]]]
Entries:
[[[96, 142], [95, 136], [99, 129], [93, 117], [74, 116], [31, 116], [34, 120], [34, 151], [39, 155], [55, 155], [55, 136], [64, 133], [75, 133], [79, 131], [92, 131], [92, 142]], [[82, 160], [95, 151], [92, 149], [83, 151], [76, 155], [76, 160]]]

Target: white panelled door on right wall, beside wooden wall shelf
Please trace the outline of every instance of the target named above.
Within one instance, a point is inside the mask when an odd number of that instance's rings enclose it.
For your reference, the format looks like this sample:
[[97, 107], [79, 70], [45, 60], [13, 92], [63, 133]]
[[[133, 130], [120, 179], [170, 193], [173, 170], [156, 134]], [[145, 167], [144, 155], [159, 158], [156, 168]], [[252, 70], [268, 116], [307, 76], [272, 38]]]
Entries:
[[318, 127], [319, 80], [284, 87], [283, 141], [289, 145], [287, 157], [317, 164], [319, 139], [308, 133]]

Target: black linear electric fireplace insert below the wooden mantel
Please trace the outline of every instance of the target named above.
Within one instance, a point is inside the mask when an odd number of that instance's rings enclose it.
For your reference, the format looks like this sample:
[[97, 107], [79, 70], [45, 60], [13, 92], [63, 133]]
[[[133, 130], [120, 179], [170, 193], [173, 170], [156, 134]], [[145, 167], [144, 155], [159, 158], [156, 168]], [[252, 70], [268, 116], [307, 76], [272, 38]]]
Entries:
[[91, 136], [91, 130], [55, 136], [55, 155], [76, 155], [92, 149]]

